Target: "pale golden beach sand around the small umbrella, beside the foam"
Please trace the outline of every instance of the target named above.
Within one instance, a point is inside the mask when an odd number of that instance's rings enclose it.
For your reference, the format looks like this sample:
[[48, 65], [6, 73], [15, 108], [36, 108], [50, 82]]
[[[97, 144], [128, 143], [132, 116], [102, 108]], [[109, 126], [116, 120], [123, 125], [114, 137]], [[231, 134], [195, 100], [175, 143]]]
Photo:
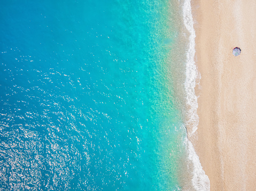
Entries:
[[190, 139], [211, 190], [256, 190], [256, 1], [192, 0], [192, 9], [201, 79]]

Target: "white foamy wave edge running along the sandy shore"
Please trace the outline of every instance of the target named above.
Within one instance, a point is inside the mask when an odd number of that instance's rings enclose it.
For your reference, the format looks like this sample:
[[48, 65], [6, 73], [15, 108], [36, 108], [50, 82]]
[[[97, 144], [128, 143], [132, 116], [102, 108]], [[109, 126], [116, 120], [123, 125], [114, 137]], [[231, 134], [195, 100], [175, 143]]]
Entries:
[[[183, 21], [185, 28], [189, 32], [189, 47], [187, 51], [187, 60], [186, 60], [186, 79], [185, 79], [185, 92], [186, 92], [186, 101], [187, 101], [187, 134], [188, 137], [197, 130], [199, 117], [197, 115], [197, 96], [195, 94], [196, 80], [199, 77], [194, 60], [195, 57], [195, 38], [196, 32], [193, 28], [193, 18], [191, 11], [191, 2], [190, 0], [184, 0], [183, 4]], [[192, 143], [186, 138], [186, 148], [188, 151], [188, 160], [192, 164], [192, 185], [198, 191], [210, 191], [210, 180], [203, 170], [203, 167], [200, 164], [199, 157], [196, 154], [195, 149], [193, 148]]]

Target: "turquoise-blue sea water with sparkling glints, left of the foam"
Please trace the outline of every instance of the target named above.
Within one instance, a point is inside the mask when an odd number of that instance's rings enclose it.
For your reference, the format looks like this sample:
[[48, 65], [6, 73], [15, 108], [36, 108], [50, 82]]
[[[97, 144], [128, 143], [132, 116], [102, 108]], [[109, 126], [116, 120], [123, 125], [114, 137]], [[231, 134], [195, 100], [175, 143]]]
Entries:
[[179, 190], [170, 2], [0, 6], [0, 190]]

